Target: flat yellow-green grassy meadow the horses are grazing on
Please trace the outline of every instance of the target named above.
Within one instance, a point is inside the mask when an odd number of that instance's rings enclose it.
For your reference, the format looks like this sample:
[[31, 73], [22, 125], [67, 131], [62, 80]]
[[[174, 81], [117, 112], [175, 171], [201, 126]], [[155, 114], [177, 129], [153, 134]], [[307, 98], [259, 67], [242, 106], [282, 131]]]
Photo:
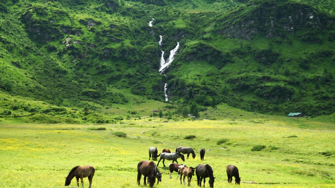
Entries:
[[[334, 123], [314, 118], [254, 115], [226, 105], [218, 109], [217, 113], [226, 114], [220, 114], [221, 120], [180, 118], [166, 122], [164, 118], [143, 116], [124, 120], [122, 124], [0, 121], [0, 186], [63, 187], [64, 177], [72, 167], [92, 165], [96, 169], [93, 188], [138, 187], [137, 163], [148, 160], [149, 147], [157, 147], [160, 153], [164, 148], [173, 152], [174, 147], [185, 146], [197, 151], [212, 150], [206, 151], [205, 161], [201, 161], [196, 152], [195, 159], [190, 157], [178, 162], [192, 167], [210, 164], [216, 177], [215, 187], [236, 186], [227, 183], [225, 167], [229, 164], [239, 168], [242, 181], [258, 183], [241, 183], [241, 187], [335, 187], [335, 177], [313, 173], [335, 175]], [[106, 130], [90, 130], [92, 127]], [[114, 135], [117, 131], [126, 133], [127, 137]], [[185, 139], [187, 135], [195, 135], [195, 138]], [[220, 139], [222, 144], [217, 143]], [[256, 145], [265, 148], [251, 151]], [[169, 161], [165, 161], [165, 165], [168, 164]], [[162, 182], [154, 187], [180, 187], [179, 180], [175, 179], [177, 173], [169, 179], [168, 167], [163, 167], [162, 161], [158, 168], [163, 173]], [[76, 187], [75, 180], [71, 186]], [[84, 186], [88, 187], [87, 178]], [[191, 186], [197, 186], [196, 177]]]

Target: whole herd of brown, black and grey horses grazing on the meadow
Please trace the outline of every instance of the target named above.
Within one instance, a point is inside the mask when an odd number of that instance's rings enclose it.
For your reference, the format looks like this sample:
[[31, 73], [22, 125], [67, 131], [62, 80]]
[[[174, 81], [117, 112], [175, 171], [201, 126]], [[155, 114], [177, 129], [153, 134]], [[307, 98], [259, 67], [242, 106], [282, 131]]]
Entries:
[[[204, 160], [205, 156], [205, 149], [202, 148], [200, 150], [200, 159]], [[140, 161], [137, 164], [137, 184], [140, 185], [140, 180], [142, 175], [144, 176], [143, 178], [143, 183], [144, 185], [149, 184], [150, 187], [153, 187], [153, 185], [156, 182], [157, 179], [157, 184], [161, 182], [162, 178], [162, 173], [158, 170], [158, 165], [161, 160], [163, 160], [163, 166], [165, 167], [164, 161], [165, 159], [168, 161], [172, 161], [172, 163], [169, 163], [169, 174], [170, 174], [170, 179], [172, 178], [172, 173], [177, 172], [178, 176], [177, 179], [180, 175], [180, 184], [182, 184], [182, 177], [183, 182], [185, 185], [185, 178], [187, 177], [187, 185], [190, 186], [191, 184], [191, 179], [192, 176], [194, 176], [194, 173], [197, 176], [197, 183], [198, 186], [201, 187], [202, 180], [204, 182], [203, 186], [205, 187], [205, 182], [206, 178], [209, 178], [209, 187], [214, 187], [214, 180], [215, 177], [213, 175], [213, 169], [210, 165], [206, 164], [199, 164], [195, 168], [193, 167], [187, 167], [186, 165], [183, 164], [178, 164], [177, 159], [181, 158], [185, 162], [185, 157], [183, 154], [187, 154], [187, 158], [189, 158], [190, 154], [192, 154], [192, 158], [195, 158], [195, 153], [194, 150], [190, 147], [178, 147], [176, 149], [176, 152], [171, 153], [170, 150], [164, 149], [162, 153], [158, 154], [158, 150], [155, 147], [149, 148], [149, 160], [150, 158], [153, 161], [157, 161], [157, 158], [159, 157], [159, 161], [157, 165], [151, 161]], [[176, 163], [174, 163], [176, 161]], [[76, 166], [71, 169], [70, 173], [68, 174], [67, 177], [65, 177], [65, 186], [70, 185], [71, 180], [76, 177], [77, 179], [77, 186], [79, 187], [79, 178], [81, 180], [82, 187], [84, 187], [83, 183], [83, 178], [88, 178], [89, 181], [89, 188], [91, 188], [92, 185], [92, 179], [94, 176], [95, 169], [93, 166]], [[231, 183], [232, 177], [235, 177], [235, 184], [240, 184], [241, 182], [241, 177], [239, 175], [239, 170], [236, 166], [233, 165], [228, 165], [226, 168], [226, 173], [228, 177], [228, 183]]]

